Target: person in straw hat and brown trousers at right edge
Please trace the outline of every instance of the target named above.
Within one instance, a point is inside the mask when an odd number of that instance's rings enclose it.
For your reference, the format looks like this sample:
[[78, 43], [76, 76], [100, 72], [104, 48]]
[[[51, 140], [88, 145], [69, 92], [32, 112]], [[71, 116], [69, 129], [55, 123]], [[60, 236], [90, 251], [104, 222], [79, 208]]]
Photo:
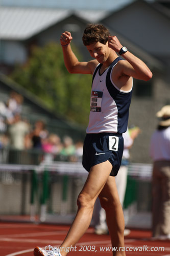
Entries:
[[151, 138], [153, 165], [153, 237], [170, 239], [170, 105], [157, 112], [160, 118]]

